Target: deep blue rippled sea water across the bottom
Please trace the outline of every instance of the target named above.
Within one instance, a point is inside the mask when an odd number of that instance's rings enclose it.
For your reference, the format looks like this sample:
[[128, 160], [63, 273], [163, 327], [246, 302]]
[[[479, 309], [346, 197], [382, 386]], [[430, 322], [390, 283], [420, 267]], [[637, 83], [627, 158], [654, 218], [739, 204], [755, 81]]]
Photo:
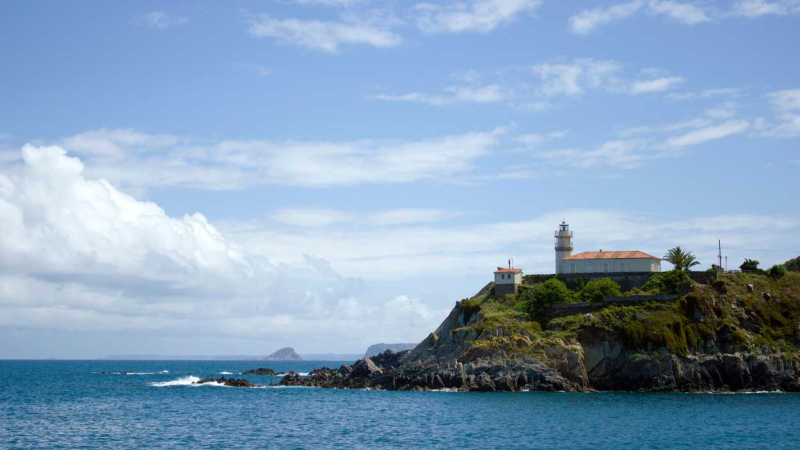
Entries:
[[339, 363], [0, 361], [0, 448], [800, 448], [797, 394], [188, 385], [325, 364]]

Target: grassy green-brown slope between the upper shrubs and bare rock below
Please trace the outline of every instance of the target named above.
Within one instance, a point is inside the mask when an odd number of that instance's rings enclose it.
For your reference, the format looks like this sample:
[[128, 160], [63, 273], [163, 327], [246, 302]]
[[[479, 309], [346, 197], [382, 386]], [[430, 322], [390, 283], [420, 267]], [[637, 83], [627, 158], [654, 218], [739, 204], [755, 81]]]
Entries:
[[[513, 299], [488, 293], [463, 303], [465, 314], [480, 314], [465, 360], [502, 351], [539, 357], [547, 345], [574, 343], [598, 331], [616, 335], [630, 351], [666, 348], [686, 355], [703, 351], [757, 351], [797, 355], [800, 348], [800, 274], [780, 280], [753, 274], [725, 275], [717, 287], [694, 284], [674, 304], [608, 306], [591, 315], [574, 315], [539, 323], [510, 307]], [[754, 286], [749, 292], [747, 284]], [[762, 293], [768, 292], [770, 300]], [[714, 338], [716, 348], [705, 343]]]

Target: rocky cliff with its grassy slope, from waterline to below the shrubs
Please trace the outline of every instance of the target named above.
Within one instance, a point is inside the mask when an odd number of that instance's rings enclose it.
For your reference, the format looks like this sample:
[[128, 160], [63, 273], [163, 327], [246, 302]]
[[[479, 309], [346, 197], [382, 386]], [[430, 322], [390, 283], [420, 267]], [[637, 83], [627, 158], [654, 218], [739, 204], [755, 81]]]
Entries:
[[[800, 274], [690, 282], [674, 303], [541, 324], [490, 296], [456, 306], [413, 350], [281, 384], [399, 390], [800, 391]], [[513, 299], [510, 299], [513, 302]]]

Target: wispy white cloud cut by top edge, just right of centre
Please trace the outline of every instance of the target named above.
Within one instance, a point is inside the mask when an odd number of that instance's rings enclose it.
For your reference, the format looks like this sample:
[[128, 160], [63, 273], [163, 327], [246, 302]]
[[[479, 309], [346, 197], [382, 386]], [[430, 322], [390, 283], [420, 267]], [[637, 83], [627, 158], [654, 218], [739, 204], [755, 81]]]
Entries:
[[533, 14], [540, 0], [464, 0], [447, 5], [419, 3], [417, 26], [425, 33], [488, 33], [523, 13]]

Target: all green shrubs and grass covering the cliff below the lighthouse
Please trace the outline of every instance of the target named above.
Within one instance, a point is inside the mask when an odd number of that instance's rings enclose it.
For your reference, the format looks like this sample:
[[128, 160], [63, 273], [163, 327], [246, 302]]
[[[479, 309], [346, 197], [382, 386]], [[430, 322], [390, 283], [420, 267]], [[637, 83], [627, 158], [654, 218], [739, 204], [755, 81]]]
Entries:
[[[516, 296], [483, 295], [462, 302], [474, 329], [472, 353], [492, 348], [507, 354], [533, 354], [542, 339], [565, 345], [597, 333], [616, 336], [629, 351], [665, 349], [671, 354], [772, 352], [796, 355], [800, 348], [800, 274], [723, 275], [713, 285], [689, 281], [680, 271], [652, 277], [637, 294], [676, 294], [670, 303], [609, 305], [592, 313], [547, 320], [547, 308], [570, 300], [597, 301], [618, 295], [609, 279], [592, 280], [575, 290], [551, 278], [523, 286]], [[477, 318], [477, 320], [472, 320]], [[463, 329], [462, 329], [463, 330]], [[528, 348], [531, 347], [531, 348]]]

